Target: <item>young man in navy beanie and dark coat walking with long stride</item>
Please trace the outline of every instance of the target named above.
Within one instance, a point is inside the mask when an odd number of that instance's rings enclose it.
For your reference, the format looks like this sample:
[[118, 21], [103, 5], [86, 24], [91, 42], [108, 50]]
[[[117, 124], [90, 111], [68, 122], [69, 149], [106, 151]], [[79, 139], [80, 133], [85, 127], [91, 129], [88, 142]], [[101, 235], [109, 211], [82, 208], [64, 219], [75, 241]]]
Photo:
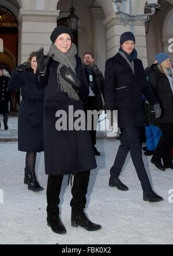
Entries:
[[138, 136], [138, 127], [144, 125], [142, 94], [153, 105], [156, 117], [161, 115], [161, 109], [153, 93], [152, 87], [146, 82], [142, 61], [137, 58], [134, 49], [135, 38], [131, 32], [121, 35], [119, 52], [106, 61], [105, 96], [106, 111], [118, 110], [118, 127], [122, 138], [114, 165], [110, 170], [110, 186], [127, 191], [126, 185], [118, 179], [127, 153], [131, 154], [134, 167], [140, 179], [143, 199], [149, 202], [163, 200], [152, 191], [142, 161], [142, 152]]

